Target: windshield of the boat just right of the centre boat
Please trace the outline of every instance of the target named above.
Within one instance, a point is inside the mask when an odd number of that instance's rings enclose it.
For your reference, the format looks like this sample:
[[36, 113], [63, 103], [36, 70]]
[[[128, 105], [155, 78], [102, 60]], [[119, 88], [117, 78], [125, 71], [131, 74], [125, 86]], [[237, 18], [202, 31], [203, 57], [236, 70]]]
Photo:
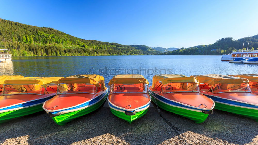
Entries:
[[162, 85], [161, 91], [163, 94], [175, 92], [198, 92], [200, 93], [199, 85], [193, 82], [172, 82]]

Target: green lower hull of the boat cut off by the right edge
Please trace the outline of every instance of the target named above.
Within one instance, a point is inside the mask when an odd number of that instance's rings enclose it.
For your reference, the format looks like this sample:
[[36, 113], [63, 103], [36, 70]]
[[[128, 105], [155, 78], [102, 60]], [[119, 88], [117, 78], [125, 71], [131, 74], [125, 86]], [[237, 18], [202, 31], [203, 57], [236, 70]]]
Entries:
[[215, 109], [254, 119], [258, 122], [258, 110], [235, 107], [215, 102]]

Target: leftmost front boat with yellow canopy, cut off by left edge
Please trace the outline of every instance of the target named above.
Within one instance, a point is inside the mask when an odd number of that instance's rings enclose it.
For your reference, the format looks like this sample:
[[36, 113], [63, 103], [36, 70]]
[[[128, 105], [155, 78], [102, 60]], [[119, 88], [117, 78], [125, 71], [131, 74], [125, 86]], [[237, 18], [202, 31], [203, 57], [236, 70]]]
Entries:
[[0, 96], [0, 123], [39, 111], [42, 104], [56, 94], [62, 77], [25, 77], [6, 80]]

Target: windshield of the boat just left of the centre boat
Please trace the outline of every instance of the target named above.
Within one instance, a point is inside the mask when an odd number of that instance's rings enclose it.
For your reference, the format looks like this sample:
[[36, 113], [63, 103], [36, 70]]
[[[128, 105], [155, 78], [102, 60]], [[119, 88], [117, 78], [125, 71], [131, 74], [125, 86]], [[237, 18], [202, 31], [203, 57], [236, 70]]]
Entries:
[[57, 94], [96, 94], [101, 91], [101, 86], [96, 87], [90, 83], [61, 83], [57, 86]]

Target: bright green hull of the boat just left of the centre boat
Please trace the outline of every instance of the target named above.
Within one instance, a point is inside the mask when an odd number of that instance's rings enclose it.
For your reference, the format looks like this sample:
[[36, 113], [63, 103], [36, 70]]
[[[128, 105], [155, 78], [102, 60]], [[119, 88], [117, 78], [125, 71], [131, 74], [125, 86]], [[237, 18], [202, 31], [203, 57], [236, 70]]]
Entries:
[[105, 101], [107, 99], [107, 96], [108, 96], [108, 94], [106, 94], [104, 96], [104, 98], [101, 99], [101, 101], [99, 101], [98, 103], [96, 103], [96, 104], [94, 104], [90, 107], [87, 107], [87, 108], [82, 109], [82, 110], [70, 112], [70, 113], [64, 113], [64, 114], [52, 117], [52, 119], [58, 125], [61, 125], [61, 126], [66, 125], [68, 122], [70, 122], [70, 121], [72, 121], [72, 120], [74, 120], [74, 119], [76, 119], [80, 116], [91, 113], [91, 112], [97, 110], [98, 108], [100, 108], [105, 103]]

